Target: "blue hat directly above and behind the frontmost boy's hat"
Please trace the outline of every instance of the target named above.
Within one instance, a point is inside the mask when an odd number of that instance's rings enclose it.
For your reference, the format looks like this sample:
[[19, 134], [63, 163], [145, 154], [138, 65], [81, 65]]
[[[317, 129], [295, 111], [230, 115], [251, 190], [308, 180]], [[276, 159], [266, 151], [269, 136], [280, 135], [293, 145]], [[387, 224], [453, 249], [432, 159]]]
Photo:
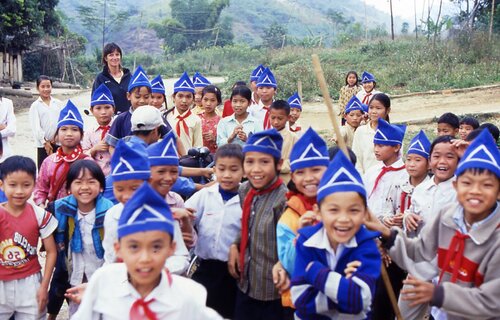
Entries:
[[151, 171], [146, 148], [141, 144], [118, 141], [111, 156], [111, 176], [113, 181], [148, 180]]

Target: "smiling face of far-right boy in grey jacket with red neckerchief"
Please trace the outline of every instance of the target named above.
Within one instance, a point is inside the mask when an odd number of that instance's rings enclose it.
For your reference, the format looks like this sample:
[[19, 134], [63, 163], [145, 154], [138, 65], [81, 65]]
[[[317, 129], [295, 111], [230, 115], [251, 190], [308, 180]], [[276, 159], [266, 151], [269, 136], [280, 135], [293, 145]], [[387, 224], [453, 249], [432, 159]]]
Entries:
[[464, 208], [465, 219], [470, 224], [485, 219], [500, 200], [500, 180], [488, 171], [474, 174], [468, 170], [453, 185], [457, 200]]

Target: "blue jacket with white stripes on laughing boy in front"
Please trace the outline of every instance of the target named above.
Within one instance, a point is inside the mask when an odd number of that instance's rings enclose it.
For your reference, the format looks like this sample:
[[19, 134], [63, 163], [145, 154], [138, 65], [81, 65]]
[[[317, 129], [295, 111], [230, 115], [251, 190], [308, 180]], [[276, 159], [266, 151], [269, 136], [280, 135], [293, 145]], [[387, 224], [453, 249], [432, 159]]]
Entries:
[[[366, 319], [380, 276], [381, 257], [373, 240], [379, 233], [362, 226], [355, 235], [357, 245], [343, 248], [333, 271], [328, 267], [326, 249], [305, 244], [311, 237], [321, 236], [317, 233], [323, 233], [322, 223], [299, 230], [291, 288], [295, 315], [299, 319]], [[356, 260], [361, 266], [347, 279], [344, 269]]]

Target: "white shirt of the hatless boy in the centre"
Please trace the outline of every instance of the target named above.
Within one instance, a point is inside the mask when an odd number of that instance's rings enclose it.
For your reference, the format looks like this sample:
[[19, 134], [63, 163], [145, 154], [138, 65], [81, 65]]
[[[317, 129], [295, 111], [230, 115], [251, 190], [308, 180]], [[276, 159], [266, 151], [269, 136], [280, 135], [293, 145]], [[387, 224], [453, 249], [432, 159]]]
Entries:
[[235, 195], [224, 203], [216, 183], [196, 192], [185, 206], [196, 210], [198, 241], [195, 254], [202, 259], [227, 261], [229, 247], [241, 232], [239, 196]]

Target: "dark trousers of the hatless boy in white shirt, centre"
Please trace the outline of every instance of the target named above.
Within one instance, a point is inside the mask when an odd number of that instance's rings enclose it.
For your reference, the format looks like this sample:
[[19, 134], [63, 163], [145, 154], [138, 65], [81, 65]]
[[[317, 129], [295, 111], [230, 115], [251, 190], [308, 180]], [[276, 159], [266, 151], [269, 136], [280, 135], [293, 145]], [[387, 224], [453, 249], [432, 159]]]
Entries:
[[192, 279], [207, 289], [207, 306], [224, 318], [232, 318], [236, 300], [236, 279], [231, 277], [227, 262], [200, 260]]

